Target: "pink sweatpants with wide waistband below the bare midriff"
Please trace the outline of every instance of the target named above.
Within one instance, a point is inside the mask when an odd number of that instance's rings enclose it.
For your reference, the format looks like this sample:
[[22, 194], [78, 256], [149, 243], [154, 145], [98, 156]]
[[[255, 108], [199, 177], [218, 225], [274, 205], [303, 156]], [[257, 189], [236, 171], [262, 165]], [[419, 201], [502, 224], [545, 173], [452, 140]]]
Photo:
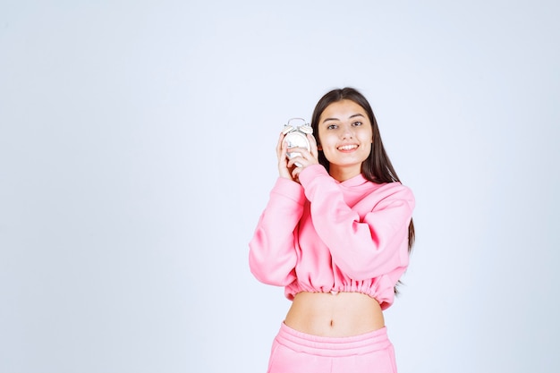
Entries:
[[386, 328], [350, 337], [323, 337], [282, 323], [272, 344], [268, 373], [396, 373]]

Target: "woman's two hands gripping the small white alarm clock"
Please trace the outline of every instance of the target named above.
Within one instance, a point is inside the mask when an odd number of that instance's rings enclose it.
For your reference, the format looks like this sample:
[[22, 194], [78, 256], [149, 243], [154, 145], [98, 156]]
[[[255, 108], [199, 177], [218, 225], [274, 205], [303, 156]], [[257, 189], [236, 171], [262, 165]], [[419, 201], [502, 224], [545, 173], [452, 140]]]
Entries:
[[278, 145], [276, 146], [276, 155], [278, 157], [278, 172], [285, 179], [299, 182], [299, 174], [309, 165], [318, 165], [318, 149], [317, 141], [313, 135], [307, 134], [307, 140], [310, 141], [310, 150], [306, 148], [290, 148], [290, 152], [299, 153], [298, 157], [288, 159], [288, 145], [284, 141], [284, 133], [280, 133]]

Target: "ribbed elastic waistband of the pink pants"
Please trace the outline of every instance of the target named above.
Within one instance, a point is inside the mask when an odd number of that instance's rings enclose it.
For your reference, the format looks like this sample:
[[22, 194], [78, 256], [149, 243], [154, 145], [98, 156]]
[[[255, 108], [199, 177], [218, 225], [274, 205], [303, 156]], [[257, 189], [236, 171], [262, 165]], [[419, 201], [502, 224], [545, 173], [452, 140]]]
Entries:
[[363, 335], [326, 337], [301, 333], [284, 323], [276, 335], [276, 342], [295, 352], [306, 352], [319, 356], [361, 355], [384, 350], [391, 346], [386, 327]]

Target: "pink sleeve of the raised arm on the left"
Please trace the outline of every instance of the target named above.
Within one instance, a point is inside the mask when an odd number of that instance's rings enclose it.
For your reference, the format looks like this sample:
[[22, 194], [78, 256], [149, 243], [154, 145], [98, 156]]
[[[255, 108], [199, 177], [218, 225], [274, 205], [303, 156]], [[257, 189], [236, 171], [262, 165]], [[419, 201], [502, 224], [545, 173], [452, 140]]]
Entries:
[[305, 201], [299, 183], [277, 179], [249, 243], [250, 271], [260, 282], [286, 286], [295, 280], [295, 231]]

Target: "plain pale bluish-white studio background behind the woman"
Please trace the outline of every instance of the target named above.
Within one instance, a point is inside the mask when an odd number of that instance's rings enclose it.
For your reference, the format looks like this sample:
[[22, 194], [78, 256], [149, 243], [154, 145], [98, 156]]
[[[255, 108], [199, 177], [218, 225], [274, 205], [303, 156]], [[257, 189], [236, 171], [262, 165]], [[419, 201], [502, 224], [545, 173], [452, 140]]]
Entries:
[[369, 98], [417, 244], [401, 373], [557, 372], [555, 1], [0, 3], [0, 372], [264, 372], [284, 122]]

